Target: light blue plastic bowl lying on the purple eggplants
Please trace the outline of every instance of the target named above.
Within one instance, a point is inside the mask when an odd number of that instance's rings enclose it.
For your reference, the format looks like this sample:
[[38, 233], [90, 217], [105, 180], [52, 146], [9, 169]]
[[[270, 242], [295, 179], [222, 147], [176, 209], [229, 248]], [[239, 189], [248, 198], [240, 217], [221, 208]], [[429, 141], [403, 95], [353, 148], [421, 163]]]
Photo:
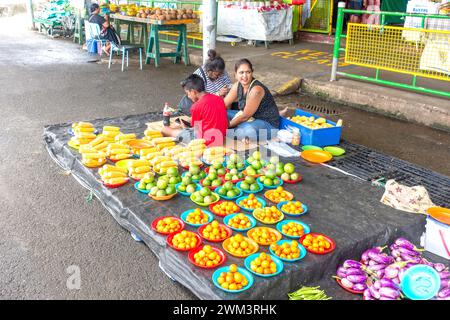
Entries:
[[433, 298], [441, 286], [439, 273], [427, 265], [416, 265], [402, 275], [400, 288], [411, 300], [429, 300]]

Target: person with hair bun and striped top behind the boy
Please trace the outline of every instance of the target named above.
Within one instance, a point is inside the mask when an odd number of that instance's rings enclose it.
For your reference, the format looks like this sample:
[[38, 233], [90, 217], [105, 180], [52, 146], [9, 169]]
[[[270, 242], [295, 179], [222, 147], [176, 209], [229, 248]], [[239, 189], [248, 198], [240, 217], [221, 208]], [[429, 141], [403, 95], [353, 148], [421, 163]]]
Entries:
[[[199, 75], [203, 79], [205, 92], [225, 97], [231, 87], [230, 77], [225, 71], [225, 61], [212, 49], [208, 51], [208, 57], [209, 59], [206, 63], [195, 70], [194, 74]], [[187, 96], [184, 96], [178, 104], [178, 111], [189, 115], [192, 103]]]

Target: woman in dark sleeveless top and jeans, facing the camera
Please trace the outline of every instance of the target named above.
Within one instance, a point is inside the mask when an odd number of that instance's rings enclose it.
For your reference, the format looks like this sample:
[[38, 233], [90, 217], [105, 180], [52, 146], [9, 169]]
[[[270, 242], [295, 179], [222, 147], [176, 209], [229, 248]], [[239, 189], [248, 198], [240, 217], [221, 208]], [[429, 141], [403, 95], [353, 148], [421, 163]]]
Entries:
[[[280, 113], [272, 94], [253, 78], [253, 66], [249, 60], [239, 60], [234, 71], [238, 82], [224, 99], [230, 121], [227, 136], [238, 140], [270, 139], [280, 124]], [[235, 101], [239, 110], [230, 110]]]

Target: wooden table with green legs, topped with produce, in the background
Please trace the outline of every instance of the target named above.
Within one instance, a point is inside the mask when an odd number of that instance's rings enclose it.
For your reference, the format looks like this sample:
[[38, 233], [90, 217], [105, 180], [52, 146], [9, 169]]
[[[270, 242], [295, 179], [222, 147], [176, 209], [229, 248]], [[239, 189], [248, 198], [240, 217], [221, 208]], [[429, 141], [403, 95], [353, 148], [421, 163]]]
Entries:
[[[198, 23], [198, 19], [182, 19], [182, 20], [153, 20], [146, 18], [137, 18], [130, 16], [123, 16], [120, 14], [112, 14], [111, 18], [117, 26], [117, 30], [120, 32], [119, 24], [120, 22], [126, 22], [128, 27], [127, 40], [130, 43], [134, 42], [134, 32], [133, 25], [139, 24], [142, 26], [142, 32], [139, 37], [139, 44], [142, 44], [147, 48], [147, 57], [145, 63], [149, 64], [151, 59], [155, 59], [155, 66], [159, 67], [160, 58], [162, 57], [173, 57], [174, 63], [181, 61], [182, 56], [184, 57], [184, 63], [189, 64], [189, 54], [188, 45], [186, 38], [186, 25], [189, 23]], [[147, 41], [148, 25], [151, 25], [150, 34]], [[161, 53], [159, 47], [159, 32], [160, 31], [178, 31], [178, 41], [175, 52]], [[131, 37], [130, 37], [131, 34]], [[183, 48], [183, 52], [181, 49]]]

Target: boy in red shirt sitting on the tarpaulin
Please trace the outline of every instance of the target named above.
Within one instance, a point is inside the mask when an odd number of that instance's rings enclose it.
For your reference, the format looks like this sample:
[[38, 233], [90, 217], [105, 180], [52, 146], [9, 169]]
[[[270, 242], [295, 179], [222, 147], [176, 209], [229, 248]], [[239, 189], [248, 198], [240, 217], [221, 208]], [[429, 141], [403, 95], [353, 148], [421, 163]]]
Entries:
[[189, 143], [193, 139], [205, 139], [207, 146], [223, 146], [228, 128], [227, 110], [223, 99], [205, 92], [203, 79], [191, 74], [181, 86], [194, 104], [190, 110], [191, 128], [183, 122], [176, 126], [164, 126], [164, 136], [176, 137], [179, 142]]

